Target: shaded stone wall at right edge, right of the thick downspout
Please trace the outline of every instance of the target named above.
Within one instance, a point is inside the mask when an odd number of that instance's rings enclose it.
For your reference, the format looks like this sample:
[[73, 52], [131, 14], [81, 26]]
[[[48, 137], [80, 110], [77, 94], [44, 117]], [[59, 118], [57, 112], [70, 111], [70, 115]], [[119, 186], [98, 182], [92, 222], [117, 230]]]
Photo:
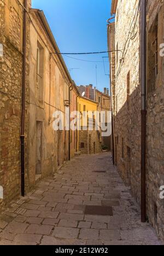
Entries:
[[[164, 4], [148, 1], [148, 72], [154, 74], [151, 63], [152, 42], [157, 20], [158, 49], [163, 43]], [[164, 239], [164, 200], [160, 187], [164, 185], [164, 62], [158, 52], [158, 74], [151, 81], [148, 77], [147, 95], [147, 213], [157, 234]]]

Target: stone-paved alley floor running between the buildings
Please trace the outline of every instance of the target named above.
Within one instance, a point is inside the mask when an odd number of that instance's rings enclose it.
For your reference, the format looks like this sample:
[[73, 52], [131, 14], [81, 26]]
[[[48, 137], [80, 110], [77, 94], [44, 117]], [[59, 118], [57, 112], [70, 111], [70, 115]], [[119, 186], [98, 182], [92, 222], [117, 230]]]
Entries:
[[[95, 172], [106, 171], [106, 172]], [[112, 206], [113, 216], [84, 214]], [[99, 214], [97, 212], [97, 214]], [[79, 156], [0, 215], [0, 245], [160, 245], [109, 153]]]

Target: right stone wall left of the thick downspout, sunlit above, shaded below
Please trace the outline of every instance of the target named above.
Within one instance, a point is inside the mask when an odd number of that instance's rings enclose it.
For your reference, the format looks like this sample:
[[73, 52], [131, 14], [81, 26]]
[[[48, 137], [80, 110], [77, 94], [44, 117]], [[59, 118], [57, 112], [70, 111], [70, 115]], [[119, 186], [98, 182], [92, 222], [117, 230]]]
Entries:
[[[118, 1], [115, 21], [115, 160], [140, 200], [139, 1]], [[113, 72], [114, 73], [114, 72]], [[129, 78], [128, 78], [129, 77]], [[127, 95], [127, 86], [130, 93]], [[127, 103], [128, 97], [128, 103]], [[130, 165], [131, 163], [131, 165]]]

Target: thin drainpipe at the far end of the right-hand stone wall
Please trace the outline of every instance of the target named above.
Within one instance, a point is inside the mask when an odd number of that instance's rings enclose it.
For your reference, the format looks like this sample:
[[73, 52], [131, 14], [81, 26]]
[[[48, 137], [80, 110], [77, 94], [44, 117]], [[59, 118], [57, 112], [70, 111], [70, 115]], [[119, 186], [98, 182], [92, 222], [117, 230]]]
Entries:
[[[113, 18], [112, 18], [113, 19]], [[109, 22], [109, 21], [108, 21]], [[111, 38], [111, 31], [110, 31], [110, 23], [109, 23], [109, 36]], [[111, 44], [110, 44], [110, 38], [109, 38], [109, 51], [111, 51]], [[109, 62], [110, 62], [110, 104], [111, 104], [111, 111], [112, 111], [112, 154], [113, 154], [113, 165], [115, 164], [115, 152], [114, 152], [114, 118], [113, 118], [113, 99], [112, 99], [112, 77], [111, 77], [111, 57], [109, 53]]]

